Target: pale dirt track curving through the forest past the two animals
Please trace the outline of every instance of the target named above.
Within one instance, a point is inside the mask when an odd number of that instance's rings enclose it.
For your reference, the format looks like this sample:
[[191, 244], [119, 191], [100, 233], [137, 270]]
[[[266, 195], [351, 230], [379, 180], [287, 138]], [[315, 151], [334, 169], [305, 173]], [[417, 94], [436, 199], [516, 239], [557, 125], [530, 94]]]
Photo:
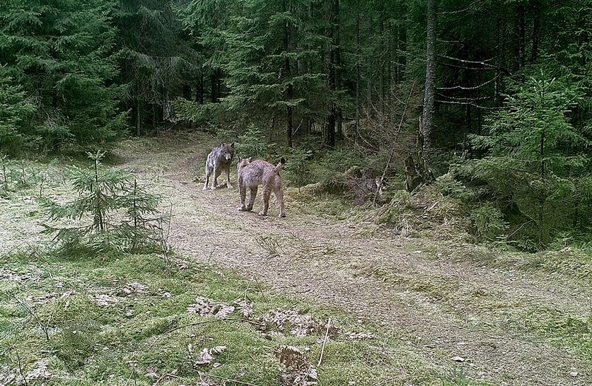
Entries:
[[[253, 213], [240, 212], [236, 186], [202, 191], [203, 182], [195, 181], [203, 178], [206, 148], [192, 139], [163, 139], [132, 142], [120, 153], [124, 167], [170, 199], [170, 243], [178, 253], [343, 308], [434, 363], [451, 366], [454, 356], [463, 357], [453, 365], [471, 378], [592, 385], [591, 363], [500, 322], [525, 303], [589, 313], [590, 288], [458, 259], [463, 250], [450, 243], [370, 233], [371, 224], [327, 218], [315, 213], [314, 202], [295, 202], [289, 194], [286, 218], [276, 217], [274, 200], [271, 216], [257, 216], [260, 197]], [[236, 170], [231, 177], [236, 181]]]

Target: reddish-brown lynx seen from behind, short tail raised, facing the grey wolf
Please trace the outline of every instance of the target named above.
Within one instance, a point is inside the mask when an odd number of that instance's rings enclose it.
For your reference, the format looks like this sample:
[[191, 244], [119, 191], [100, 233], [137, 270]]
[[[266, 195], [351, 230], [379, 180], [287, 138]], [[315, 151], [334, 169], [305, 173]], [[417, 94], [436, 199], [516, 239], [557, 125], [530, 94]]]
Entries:
[[[238, 191], [240, 193], [239, 211], [252, 211], [255, 197], [257, 196], [257, 187], [263, 187], [263, 209], [259, 212], [260, 216], [267, 216], [269, 209], [269, 196], [274, 192], [279, 203], [279, 217], [286, 217], [286, 208], [284, 206], [284, 188], [282, 187], [282, 176], [279, 170], [284, 168], [286, 160], [282, 158], [274, 166], [264, 160], [254, 160], [242, 158], [238, 161]], [[247, 188], [250, 189], [249, 204], [245, 206], [247, 198]]]

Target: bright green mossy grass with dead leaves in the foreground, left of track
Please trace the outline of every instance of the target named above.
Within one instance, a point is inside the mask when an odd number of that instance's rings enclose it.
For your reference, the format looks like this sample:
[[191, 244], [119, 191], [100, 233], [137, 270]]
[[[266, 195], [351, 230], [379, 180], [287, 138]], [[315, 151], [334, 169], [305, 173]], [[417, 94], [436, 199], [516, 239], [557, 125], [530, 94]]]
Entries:
[[[271, 309], [294, 308], [320, 323], [331, 317], [341, 332], [375, 334], [366, 339], [332, 335], [318, 368], [323, 385], [441, 385], [440, 379], [447, 379], [446, 385], [477, 385], [446, 378], [446, 372], [421, 353], [339, 310], [272, 293], [233, 272], [186, 263], [181, 268], [158, 255], [118, 252], [8, 255], [3, 272], [13, 279], [0, 282], [0, 372], [26, 374], [47, 359], [52, 375], [46, 385], [66, 380], [152, 385], [156, 380], [146, 375], [151, 370], [158, 377], [173, 374], [159, 382], [163, 385], [195, 384], [198, 371], [215, 375], [212, 380], [279, 385], [274, 349], [286, 344], [308, 348], [306, 356], [317, 364], [322, 332], [270, 336], [236, 314], [232, 320], [218, 320], [187, 312], [197, 296], [204, 296], [226, 302], [251, 299], [255, 317]], [[98, 304], [101, 295], [110, 299], [106, 305]], [[227, 347], [216, 356], [221, 365], [194, 365], [199, 352], [213, 346]]]

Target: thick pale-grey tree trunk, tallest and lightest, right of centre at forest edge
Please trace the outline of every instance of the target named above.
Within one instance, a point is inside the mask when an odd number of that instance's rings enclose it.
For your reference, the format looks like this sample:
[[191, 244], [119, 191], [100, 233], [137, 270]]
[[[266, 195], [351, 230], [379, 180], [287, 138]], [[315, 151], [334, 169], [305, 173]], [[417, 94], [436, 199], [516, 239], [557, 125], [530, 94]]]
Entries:
[[431, 154], [431, 130], [434, 120], [434, 93], [436, 83], [436, 0], [427, 0], [427, 35], [426, 35], [426, 89], [424, 93], [424, 111], [422, 113], [422, 134], [424, 137], [422, 156], [424, 165], [429, 168]]

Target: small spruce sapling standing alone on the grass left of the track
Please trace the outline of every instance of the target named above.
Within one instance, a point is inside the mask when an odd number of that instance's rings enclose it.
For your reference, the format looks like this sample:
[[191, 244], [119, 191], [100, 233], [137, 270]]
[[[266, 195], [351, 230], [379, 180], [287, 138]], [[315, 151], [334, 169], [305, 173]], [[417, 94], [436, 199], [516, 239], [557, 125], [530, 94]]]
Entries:
[[39, 199], [50, 221], [69, 219], [79, 224], [63, 228], [43, 224], [45, 233], [56, 234], [54, 239], [66, 247], [82, 244], [94, 249], [137, 250], [161, 245], [159, 227], [168, 219], [153, 216], [158, 214], [160, 197], [140, 187], [128, 172], [102, 168], [104, 152], [87, 154], [93, 160], [91, 168], [69, 170], [76, 199], [66, 204]]

